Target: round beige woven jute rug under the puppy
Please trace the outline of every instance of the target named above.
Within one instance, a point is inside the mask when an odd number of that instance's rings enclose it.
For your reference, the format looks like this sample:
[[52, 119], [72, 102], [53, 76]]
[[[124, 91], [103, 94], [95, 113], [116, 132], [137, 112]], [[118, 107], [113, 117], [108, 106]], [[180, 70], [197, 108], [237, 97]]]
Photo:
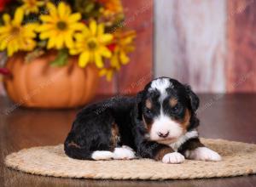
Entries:
[[12, 153], [5, 159], [8, 167], [22, 172], [63, 178], [102, 179], [184, 179], [219, 178], [256, 173], [256, 144], [201, 139], [216, 150], [222, 161], [190, 161], [164, 164], [139, 159], [131, 161], [80, 161], [69, 158], [63, 144], [33, 147]]

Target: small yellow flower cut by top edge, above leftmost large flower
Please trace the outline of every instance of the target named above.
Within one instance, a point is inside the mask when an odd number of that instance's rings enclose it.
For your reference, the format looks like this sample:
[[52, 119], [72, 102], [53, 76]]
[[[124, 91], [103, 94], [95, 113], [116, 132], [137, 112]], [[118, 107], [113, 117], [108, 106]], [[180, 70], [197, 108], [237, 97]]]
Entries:
[[44, 5], [44, 1], [38, 0], [22, 0], [23, 4], [20, 8], [23, 8], [25, 14], [38, 13], [39, 7]]

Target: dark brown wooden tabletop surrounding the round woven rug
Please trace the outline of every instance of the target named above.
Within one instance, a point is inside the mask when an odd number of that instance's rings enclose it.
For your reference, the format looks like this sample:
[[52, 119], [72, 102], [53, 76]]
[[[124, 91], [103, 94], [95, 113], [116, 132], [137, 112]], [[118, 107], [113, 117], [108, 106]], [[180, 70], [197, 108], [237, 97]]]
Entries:
[[[200, 94], [202, 137], [256, 143], [256, 94]], [[102, 97], [97, 97], [102, 99]], [[41, 177], [3, 165], [4, 156], [31, 146], [60, 144], [73, 110], [29, 110], [0, 98], [0, 186], [256, 186], [256, 175], [234, 178], [136, 181]], [[256, 161], [256, 158], [252, 158]]]

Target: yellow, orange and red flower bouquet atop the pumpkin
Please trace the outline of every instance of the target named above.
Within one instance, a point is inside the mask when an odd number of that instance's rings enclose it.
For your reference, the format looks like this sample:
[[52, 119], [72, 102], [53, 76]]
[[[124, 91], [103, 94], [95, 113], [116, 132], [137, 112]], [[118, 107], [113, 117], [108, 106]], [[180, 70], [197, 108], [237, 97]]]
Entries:
[[136, 33], [123, 27], [120, 0], [2, 0], [0, 16], [0, 51], [8, 58], [25, 51], [30, 62], [55, 49], [51, 65], [78, 55], [81, 68], [94, 63], [111, 80], [134, 50]]

